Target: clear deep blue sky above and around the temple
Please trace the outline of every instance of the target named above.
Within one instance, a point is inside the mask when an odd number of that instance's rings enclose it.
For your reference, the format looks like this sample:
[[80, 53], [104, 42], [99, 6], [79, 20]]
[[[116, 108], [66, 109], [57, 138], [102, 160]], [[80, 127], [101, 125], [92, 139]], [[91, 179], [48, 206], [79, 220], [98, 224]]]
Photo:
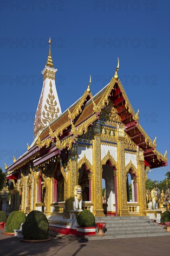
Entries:
[[[26, 151], [33, 141], [42, 89], [41, 71], [52, 38], [52, 60], [62, 111], [85, 91], [92, 94], [119, 77], [140, 124], [157, 150], [169, 148], [169, 1], [1, 1], [0, 166]], [[149, 175], [163, 180], [167, 171]]]

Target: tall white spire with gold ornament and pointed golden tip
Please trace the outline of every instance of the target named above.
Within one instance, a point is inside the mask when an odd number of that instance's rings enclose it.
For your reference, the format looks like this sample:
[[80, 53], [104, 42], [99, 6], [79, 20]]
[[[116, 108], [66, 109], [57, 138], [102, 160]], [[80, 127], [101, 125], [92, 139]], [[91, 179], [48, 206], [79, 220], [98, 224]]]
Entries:
[[51, 39], [49, 40], [49, 52], [46, 66], [41, 72], [43, 74], [43, 88], [39, 98], [39, 104], [34, 120], [34, 135], [37, 136], [40, 130], [48, 126], [59, 115], [61, 107], [55, 86], [55, 74], [57, 69], [53, 67], [51, 55]]

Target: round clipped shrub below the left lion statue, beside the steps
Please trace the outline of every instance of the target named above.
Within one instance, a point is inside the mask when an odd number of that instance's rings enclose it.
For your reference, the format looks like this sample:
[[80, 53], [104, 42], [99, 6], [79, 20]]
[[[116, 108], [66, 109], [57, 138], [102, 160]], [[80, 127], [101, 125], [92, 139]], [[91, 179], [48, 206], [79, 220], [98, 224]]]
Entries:
[[80, 227], [92, 227], [95, 223], [95, 216], [89, 210], [83, 210], [77, 218]]

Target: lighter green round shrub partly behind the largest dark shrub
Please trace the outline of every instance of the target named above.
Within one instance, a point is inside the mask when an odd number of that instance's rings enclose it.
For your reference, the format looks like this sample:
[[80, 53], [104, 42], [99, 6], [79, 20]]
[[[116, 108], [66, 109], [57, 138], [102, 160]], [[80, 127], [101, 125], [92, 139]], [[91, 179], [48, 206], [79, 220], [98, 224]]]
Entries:
[[13, 211], [7, 218], [6, 232], [13, 233], [13, 229], [20, 229], [21, 223], [25, 222], [26, 215], [21, 211]]

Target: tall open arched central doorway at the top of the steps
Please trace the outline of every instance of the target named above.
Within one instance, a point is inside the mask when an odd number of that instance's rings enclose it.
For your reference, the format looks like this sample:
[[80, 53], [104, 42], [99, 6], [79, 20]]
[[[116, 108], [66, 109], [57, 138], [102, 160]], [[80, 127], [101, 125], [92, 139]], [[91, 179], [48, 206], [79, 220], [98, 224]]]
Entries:
[[[107, 216], [116, 215], [116, 196], [113, 170], [115, 169], [110, 161], [102, 166], [102, 179], [105, 180], [105, 195], [103, 200], [104, 213]], [[103, 193], [104, 194], [104, 193]]]

